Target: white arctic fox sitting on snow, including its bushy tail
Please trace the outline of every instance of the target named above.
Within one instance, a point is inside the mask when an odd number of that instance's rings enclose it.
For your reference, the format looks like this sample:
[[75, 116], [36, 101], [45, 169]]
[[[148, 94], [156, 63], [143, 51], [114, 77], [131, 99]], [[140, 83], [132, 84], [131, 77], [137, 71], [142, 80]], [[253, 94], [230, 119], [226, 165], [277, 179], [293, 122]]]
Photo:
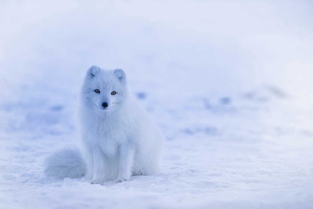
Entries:
[[91, 184], [102, 184], [160, 170], [162, 132], [131, 96], [122, 69], [91, 66], [80, 100], [82, 152], [64, 149], [54, 153], [47, 158], [47, 174], [86, 176]]

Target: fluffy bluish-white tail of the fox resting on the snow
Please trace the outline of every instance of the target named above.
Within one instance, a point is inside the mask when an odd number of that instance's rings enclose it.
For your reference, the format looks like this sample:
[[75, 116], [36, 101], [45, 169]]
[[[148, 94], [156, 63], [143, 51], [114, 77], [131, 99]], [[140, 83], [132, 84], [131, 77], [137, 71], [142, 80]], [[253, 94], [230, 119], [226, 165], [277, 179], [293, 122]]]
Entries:
[[59, 150], [46, 159], [45, 173], [60, 179], [81, 178], [87, 172], [87, 166], [80, 150], [66, 148]]

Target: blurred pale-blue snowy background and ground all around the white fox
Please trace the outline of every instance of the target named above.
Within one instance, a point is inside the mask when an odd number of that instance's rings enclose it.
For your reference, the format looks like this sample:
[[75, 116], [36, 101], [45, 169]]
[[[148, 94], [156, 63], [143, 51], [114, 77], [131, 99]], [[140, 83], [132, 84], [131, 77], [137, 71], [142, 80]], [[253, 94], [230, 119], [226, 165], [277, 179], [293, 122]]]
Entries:
[[[313, 208], [311, 1], [1, 1], [0, 208]], [[91, 65], [122, 68], [163, 171], [104, 186], [44, 159], [79, 140]]]

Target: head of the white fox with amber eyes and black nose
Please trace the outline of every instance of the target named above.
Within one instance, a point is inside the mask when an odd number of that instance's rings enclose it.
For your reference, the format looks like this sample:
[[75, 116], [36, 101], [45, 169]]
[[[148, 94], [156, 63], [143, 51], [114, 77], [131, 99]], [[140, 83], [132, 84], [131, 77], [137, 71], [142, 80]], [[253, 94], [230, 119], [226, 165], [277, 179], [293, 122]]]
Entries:
[[82, 99], [88, 107], [107, 112], [121, 107], [127, 95], [126, 76], [122, 69], [104, 70], [91, 66], [82, 87]]

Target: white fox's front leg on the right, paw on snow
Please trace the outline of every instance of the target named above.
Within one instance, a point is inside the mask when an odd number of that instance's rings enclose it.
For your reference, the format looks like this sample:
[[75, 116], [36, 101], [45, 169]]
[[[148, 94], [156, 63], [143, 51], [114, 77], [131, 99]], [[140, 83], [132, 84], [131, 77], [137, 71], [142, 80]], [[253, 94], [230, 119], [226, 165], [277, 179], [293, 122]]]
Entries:
[[128, 181], [131, 176], [131, 167], [134, 162], [135, 150], [128, 146], [121, 146], [119, 174], [116, 183]]

